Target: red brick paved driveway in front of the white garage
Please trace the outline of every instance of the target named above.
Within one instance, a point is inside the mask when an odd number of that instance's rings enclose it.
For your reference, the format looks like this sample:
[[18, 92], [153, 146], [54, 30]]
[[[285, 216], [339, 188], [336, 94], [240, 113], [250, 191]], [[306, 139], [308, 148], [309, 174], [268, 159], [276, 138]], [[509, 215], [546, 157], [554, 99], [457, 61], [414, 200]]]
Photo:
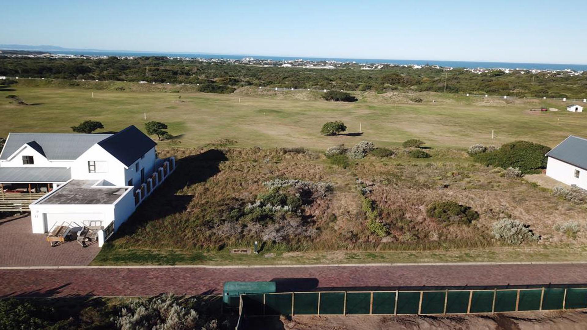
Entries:
[[100, 252], [97, 244], [76, 241], [50, 247], [44, 234], [33, 234], [31, 217], [0, 219], [0, 266], [87, 265]]

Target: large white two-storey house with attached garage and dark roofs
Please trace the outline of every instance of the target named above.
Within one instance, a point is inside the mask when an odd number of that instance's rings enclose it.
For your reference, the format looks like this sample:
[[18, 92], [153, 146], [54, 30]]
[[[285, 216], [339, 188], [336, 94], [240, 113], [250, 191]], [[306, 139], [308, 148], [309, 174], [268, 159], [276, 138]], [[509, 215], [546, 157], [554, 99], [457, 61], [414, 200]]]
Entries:
[[44, 193], [33, 233], [56, 224], [102, 227], [100, 245], [175, 168], [137, 127], [116, 134], [11, 133], [0, 153], [2, 193]]

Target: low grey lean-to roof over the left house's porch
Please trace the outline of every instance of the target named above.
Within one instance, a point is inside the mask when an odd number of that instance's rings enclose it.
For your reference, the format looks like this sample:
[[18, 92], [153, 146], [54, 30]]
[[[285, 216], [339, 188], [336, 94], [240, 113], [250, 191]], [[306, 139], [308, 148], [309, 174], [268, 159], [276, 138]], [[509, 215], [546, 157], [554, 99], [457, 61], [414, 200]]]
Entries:
[[65, 167], [0, 167], [0, 183], [65, 182], [71, 178]]

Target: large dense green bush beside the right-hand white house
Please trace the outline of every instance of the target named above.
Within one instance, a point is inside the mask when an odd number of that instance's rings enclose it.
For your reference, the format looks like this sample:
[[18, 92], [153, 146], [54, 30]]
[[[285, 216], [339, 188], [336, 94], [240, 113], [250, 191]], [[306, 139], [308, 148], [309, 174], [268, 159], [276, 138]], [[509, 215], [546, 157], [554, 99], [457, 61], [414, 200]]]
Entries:
[[475, 161], [487, 166], [518, 168], [523, 174], [546, 168], [546, 156], [551, 149], [542, 144], [528, 141], [506, 143], [500, 149], [474, 154]]

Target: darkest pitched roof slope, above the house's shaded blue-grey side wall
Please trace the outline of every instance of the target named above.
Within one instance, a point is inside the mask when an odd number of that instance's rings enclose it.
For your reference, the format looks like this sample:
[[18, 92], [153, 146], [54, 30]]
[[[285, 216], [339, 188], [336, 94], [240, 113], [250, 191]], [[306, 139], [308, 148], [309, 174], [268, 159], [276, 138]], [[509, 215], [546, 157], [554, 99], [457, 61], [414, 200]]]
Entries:
[[127, 167], [157, 145], [134, 125], [126, 127], [98, 144]]

